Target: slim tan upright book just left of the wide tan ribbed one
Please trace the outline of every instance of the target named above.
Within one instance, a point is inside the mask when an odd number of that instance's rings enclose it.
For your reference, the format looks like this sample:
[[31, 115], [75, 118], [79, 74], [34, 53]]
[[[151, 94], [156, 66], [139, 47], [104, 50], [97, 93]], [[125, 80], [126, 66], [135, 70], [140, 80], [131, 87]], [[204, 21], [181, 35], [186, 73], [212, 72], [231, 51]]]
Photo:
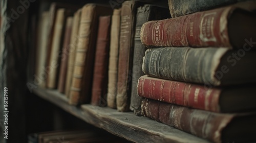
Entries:
[[66, 85], [65, 85], [65, 95], [69, 97], [69, 91], [71, 86], [71, 80], [73, 75], [74, 69], [74, 62], [75, 62], [75, 54], [76, 54], [76, 46], [78, 42], [78, 30], [80, 24], [80, 17], [81, 17], [81, 9], [77, 10], [74, 14], [73, 25], [72, 25], [72, 32], [71, 32], [71, 39], [69, 45], [69, 59], [68, 59], [68, 69], [67, 69], [67, 77], [66, 77]]

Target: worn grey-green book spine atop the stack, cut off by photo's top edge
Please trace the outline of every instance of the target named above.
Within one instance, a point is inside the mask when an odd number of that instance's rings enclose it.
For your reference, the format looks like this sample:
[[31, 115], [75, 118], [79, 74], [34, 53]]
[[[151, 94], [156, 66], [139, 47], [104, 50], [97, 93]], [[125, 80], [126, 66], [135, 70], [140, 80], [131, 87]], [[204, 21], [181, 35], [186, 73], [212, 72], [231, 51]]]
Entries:
[[177, 1], [177, 0], [168, 0], [168, 6], [170, 15], [172, 17], [179, 17], [183, 15], [187, 15], [194, 12], [205, 11], [225, 5], [230, 5], [238, 2], [238, 0], [208, 0], [208, 1]]

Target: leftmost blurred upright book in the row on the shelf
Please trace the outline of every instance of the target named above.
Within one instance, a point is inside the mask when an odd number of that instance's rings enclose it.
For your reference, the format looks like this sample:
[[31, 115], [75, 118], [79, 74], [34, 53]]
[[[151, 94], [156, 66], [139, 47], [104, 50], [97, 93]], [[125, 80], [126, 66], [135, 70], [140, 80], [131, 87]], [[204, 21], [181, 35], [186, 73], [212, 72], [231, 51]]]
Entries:
[[36, 52], [36, 70], [35, 79], [38, 80], [39, 86], [46, 87], [46, 61], [47, 61], [47, 42], [48, 42], [48, 29], [49, 29], [49, 11], [41, 14], [38, 22], [37, 33], [37, 52]]

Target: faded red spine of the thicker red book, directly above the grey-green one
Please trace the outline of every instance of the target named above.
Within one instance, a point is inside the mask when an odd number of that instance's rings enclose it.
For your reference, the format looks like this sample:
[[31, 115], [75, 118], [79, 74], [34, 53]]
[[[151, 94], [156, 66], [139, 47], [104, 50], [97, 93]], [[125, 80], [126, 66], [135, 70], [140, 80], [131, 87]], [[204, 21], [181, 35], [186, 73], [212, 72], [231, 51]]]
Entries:
[[226, 7], [177, 18], [148, 21], [141, 28], [141, 42], [146, 46], [231, 48], [227, 23], [233, 10], [233, 7]]

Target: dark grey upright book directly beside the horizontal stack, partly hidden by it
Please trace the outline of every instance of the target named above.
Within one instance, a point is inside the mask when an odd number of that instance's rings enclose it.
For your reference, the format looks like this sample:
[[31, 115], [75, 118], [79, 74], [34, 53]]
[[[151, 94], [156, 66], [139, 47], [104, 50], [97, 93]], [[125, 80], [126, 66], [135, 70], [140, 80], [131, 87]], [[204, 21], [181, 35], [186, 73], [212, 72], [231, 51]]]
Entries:
[[142, 71], [142, 59], [146, 51], [146, 46], [140, 41], [140, 29], [143, 23], [150, 20], [160, 20], [170, 18], [168, 9], [154, 5], [144, 5], [137, 10], [136, 32], [134, 37], [134, 56], [133, 56], [133, 74], [132, 74], [132, 93], [130, 109], [136, 114], [141, 115], [142, 98], [137, 94], [137, 83], [140, 76], [144, 75]]

